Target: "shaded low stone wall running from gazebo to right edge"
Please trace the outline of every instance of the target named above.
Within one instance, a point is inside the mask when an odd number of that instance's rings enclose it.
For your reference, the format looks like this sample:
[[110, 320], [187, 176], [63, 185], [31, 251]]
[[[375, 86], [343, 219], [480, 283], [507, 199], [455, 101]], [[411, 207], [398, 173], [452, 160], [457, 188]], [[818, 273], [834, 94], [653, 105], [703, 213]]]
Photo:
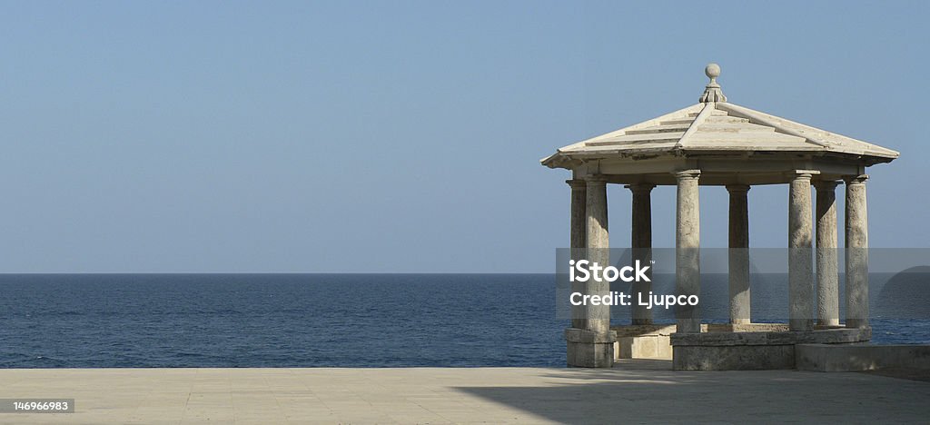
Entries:
[[830, 345], [795, 346], [798, 370], [853, 372], [883, 368], [930, 370], [930, 345]]

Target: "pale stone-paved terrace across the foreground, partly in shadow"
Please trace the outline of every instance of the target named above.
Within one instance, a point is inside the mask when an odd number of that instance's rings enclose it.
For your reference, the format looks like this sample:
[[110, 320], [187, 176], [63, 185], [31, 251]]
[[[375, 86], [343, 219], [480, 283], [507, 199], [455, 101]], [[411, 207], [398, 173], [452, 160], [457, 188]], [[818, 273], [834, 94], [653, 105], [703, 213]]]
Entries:
[[73, 414], [0, 423], [618, 423], [930, 420], [930, 382], [861, 373], [614, 369], [0, 369], [0, 398]]

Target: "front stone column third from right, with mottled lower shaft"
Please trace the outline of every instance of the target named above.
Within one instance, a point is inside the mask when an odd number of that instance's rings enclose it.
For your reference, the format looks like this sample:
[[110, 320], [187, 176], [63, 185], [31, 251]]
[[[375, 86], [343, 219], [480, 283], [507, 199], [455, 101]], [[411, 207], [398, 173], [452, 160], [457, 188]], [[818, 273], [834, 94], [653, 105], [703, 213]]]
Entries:
[[814, 263], [812, 258], [811, 174], [798, 171], [788, 196], [788, 325], [814, 329]]

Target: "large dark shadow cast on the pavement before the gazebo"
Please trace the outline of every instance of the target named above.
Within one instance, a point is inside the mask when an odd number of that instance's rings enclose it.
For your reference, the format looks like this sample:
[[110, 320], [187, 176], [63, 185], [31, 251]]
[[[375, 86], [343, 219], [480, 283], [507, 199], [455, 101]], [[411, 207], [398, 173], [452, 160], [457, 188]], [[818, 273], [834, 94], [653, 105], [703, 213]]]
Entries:
[[[551, 369], [539, 386], [456, 390], [560, 423], [922, 421], [923, 382], [797, 371], [675, 372], [671, 362]], [[898, 384], [897, 382], [908, 382]], [[916, 386], [916, 387], [915, 387]], [[914, 388], [917, 388], [916, 391]], [[882, 394], [881, 400], [874, 398]], [[921, 400], [923, 398], [923, 401]]]

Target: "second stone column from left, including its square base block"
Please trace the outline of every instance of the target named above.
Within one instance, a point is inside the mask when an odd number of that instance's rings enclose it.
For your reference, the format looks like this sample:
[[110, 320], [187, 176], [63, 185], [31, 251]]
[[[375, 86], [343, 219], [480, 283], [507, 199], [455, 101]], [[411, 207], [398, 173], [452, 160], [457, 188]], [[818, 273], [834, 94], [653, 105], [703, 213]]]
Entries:
[[[587, 249], [585, 257], [602, 267], [610, 265], [607, 232], [607, 180], [603, 176], [586, 179], [585, 216]], [[583, 293], [604, 296], [610, 293], [610, 283], [589, 280], [582, 285]], [[573, 321], [574, 322], [574, 321]], [[578, 367], [611, 367], [614, 365], [616, 333], [610, 330], [610, 306], [588, 305], [580, 328], [565, 330], [567, 364]]]

